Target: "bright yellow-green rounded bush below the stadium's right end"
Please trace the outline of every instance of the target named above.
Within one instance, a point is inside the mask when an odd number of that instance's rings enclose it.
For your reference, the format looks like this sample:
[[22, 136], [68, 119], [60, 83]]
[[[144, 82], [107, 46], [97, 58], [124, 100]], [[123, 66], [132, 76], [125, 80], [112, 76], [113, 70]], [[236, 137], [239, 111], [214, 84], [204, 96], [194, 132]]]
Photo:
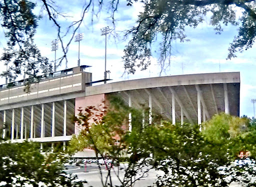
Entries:
[[235, 159], [241, 151], [249, 151], [251, 156], [255, 156], [256, 131], [253, 128], [248, 118], [222, 113], [204, 123], [202, 133], [208, 151], [225, 164]]

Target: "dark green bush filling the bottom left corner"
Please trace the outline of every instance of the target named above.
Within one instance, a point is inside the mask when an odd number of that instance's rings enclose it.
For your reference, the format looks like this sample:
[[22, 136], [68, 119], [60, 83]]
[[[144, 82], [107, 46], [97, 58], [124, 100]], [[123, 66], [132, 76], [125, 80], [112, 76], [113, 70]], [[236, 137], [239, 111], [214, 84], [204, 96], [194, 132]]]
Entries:
[[39, 144], [0, 144], [1, 187], [82, 187], [62, 172], [65, 157], [61, 153], [40, 153]]

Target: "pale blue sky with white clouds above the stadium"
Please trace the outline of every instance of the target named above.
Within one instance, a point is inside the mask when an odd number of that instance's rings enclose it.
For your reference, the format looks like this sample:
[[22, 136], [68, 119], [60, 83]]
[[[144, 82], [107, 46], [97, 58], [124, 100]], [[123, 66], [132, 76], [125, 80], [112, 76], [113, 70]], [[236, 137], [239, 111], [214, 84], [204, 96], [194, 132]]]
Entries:
[[[81, 15], [81, 1], [72, 0], [56, 1], [61, 12], [67, 12], [71, 17], [61, 18], [60, 23], [63, 29], [67, 27], [72, 20], [77, 20]], [[156, 59], [152, 59], [152, 64], [145, 71], [137, 70], [134, 75], [125, 74], [122, 76], [123, 62], [121, 56], [123, 48], [128, 40], [121, 40], [122, 34], [120, 31], [130, 28], [134, 25], [136, 15], [142, 10], [139, 3], [133, 6], [126, 6], [126, 1], [120, 2], [118, 11], [116, 12], [115, 30], [119, 33], [119, 40], [113, 38], [113, 35], [107, 36], [107, 70], [109, 70], [110, 78], [113, 81], [129, 80], [137, 78], [147, 78], [159, 76], [159, 66]], [[40, 4], [38, 4], [39, 6]], [[107, 4], [105, 4], [107, 5]], [[106, 7], [103, 7], [106, 8]], [[104, 72], [104, 36], [100, 35], [100, 28], [111, 24], [111, 19], [105, 13], [104, 9], [94, 16], [91, 22], [91, 13], [88, 12], [85, 16], [81, 27], [77, 33], [84, 33], [84, 39], [80, 42], [80, 63], [82, 65], [91, 65], [87, 70], [92, 73], [93, 80], [103, 79]], [[39, 14], [39, 7], [35, 9], [35, 13]], [[45, 15], [45, 14], [42, 14]], [[232, 42], [233, 37], [237, 33], [237, 27], [228, 25], [223, 27], [224, 31], [220, 35], [216, 35], [213, 27], [208, 25], [209, 21], [199, 24], [197, 28], [187, 28], [186, 35], [191, 41], [179, 43], [174, 41], [173, 56], [171, 58], [170, 67], [162, 73], [165, 75], [178, 74], [195, 74], [195, 73], [211, 73], [211, 72], [233, 72], [240, 71], [240, 115], [253, 116], [253, 104], [251, 99], [256, 99], [256, 52], [255, 47], [248, 49], [243, 53], [237, 53], [237, 58], [225, 60], [227, 56], [227, 49], [229, 43]], [[35, 42], [41, 50], [42, 56], [46, 56], [50, 61], [54, 60], [54, 52], [51, 51], [51, 40], [56, 38], [56, 29], [52, 22], [49, 22], [47, 17], [44, 17], [38, 22], [39, 27], [35, 35]], [[0, 33], [0, 37], [3, 33]], [[70, 35], [67, 35], [67, 37]], [[66, 42], [67, 39], [64, 39]], [[5, 40], [0, 43], [0, 48], [5, 47]], [[0, 51], [1, 52], [1, 51]], [[78, 43], [72, 41], [67, 55], [67, 67], [71, 68], [77, 64]], [[57, 58], [61, 56], [61, 51], [57, 50]], [[219, 68], [220, 66], [220, 68]], [[182, 68], [183, 67], [183, 68]], [[62, 63], [61, 68], [64, 69], [65, 63]], [[183, 69], [183, 71], [182, 71]], [[4, 83], [4, 78], [0, 79], [0, 83]], [[255, 105], [256, 106], [256, 105]]]

